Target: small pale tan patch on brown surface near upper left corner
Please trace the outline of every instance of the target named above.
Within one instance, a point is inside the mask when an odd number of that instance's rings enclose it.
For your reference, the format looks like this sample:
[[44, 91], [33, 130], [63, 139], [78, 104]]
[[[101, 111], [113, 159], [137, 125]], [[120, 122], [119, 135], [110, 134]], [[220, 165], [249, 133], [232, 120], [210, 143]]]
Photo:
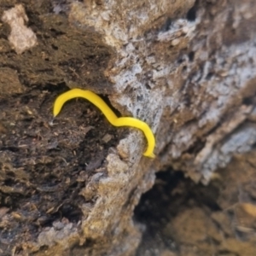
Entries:
[[26, 49], [30, 49], [37, 44], [35, 33], [25, 25], [28, 18], [21, 4], [16, 4], [14, 8], [4, 11], [2, 20], [11, 27], [8, 39], [17, 54], [22, 54]]

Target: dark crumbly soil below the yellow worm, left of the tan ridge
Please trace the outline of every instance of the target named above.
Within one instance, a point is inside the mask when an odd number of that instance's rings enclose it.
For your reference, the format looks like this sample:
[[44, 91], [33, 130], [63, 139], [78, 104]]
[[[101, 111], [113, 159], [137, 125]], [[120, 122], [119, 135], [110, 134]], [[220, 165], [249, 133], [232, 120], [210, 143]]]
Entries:
[[80, 189], [100, 167], [107, 175], [105, 157], [124, 137], [125, 129], [80, 99], [67, 102], [50, 125], [59, 93], [32, 90], [0, 102], [0, 212], [9, 216], [0, 223], [2, 250], [32, 241], [56, 220], [77, 224], [79, 205], [94, 201]]

